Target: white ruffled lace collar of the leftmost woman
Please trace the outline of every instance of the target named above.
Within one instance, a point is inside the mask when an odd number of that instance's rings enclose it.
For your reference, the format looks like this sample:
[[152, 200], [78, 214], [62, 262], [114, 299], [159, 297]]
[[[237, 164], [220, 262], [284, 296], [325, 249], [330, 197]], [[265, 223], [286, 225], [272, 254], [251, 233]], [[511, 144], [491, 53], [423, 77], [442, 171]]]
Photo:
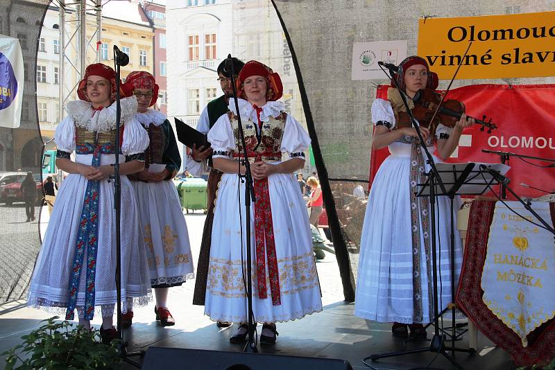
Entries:
[[[91, 103], [84, 100], [74, 100], [67, 103], [67, 112], [74, 118], [78, 127], [83, 127], [90, 132], [109, 132], [116, 125], [116, 105], [94, 111]], [[137, 112], [137, 98], [130, 96], [121, 99], [121, 121], [127, 121]]]

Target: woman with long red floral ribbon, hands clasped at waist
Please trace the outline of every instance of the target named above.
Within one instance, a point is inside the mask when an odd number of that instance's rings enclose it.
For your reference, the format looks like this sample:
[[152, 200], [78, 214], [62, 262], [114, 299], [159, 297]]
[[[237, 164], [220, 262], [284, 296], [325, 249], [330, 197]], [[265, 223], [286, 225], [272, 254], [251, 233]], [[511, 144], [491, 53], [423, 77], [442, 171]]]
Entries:
[[[305, 164], [303, 150], [310, 139], [300, 124], [284, 112], [278, 100], [282, 82], [278, 73], [260, 62], [245, 64], [237, 80], [239, 111], [257, 201], [251, 208], [253, 256], [253, 313], [263, 322], [261, 343], [273, 343], [276, 321], [300, 319], [322, 310], [310, 227], [296, 170]], [[246, 229], [244, 183], [237, 110], [221, 116], [208, 133], [214, 168], [223, 176], [219, 184], [212, 227], [210, 268], [205, 314], [215, 321], [241, 323], [230, 341], [244, 342], [247, 335]], [[282, 161], [282, 153], [289, 153]]]

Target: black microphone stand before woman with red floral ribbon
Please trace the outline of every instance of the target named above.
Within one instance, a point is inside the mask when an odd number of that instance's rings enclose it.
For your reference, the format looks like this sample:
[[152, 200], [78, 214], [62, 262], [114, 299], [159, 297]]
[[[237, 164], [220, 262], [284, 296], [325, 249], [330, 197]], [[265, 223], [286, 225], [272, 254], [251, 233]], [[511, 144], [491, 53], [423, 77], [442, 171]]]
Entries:
[[[245, 162], [245, 175], [241, 175], [241, 161], [237, 168], [237, 175], [241, 178], [241, 182], [245, 181], [245, 222], [246, 222], [246, 245], [247, 245], [247, 310], [248, 310], [248, 341], [244, 348], [244, 352], [257, 353], [258, 349], [255, 343], [255, 318], [253, 315], [253, 280], [251, 261], [253, 257], [250, 251], [250, 204], [256, 202], [255, 188], [253, 186], [253, 174], [250, 172], [250, 162], [248, 161], [248, 152], [245, 145], [245, 134], [243, 132], [243, 123], [241, 123], [241, 112], [239, 112], [239, 100], [237, 100], [237, 88], [235, 87], [235, 71], [233, 67], [233, 60], [231, 54], [225, 60], [225, 69], [230, 71], [231, 88], [233, 90], [233, 100], [235, 102], [235, 111], [237, 112], [237, 131], [239, 132], [239, 139], [241, 146], [243, 146], [243, 161]], [[244, 178], [244, 180], [243, 180]], [[244, 271], [244, 270], [243, 270]]]

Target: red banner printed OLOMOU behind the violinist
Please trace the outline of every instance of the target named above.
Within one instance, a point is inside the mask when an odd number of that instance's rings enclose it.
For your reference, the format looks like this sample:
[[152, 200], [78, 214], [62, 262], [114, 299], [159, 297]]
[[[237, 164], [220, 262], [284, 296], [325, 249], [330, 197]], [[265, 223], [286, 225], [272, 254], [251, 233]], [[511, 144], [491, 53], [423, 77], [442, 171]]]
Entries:
[[[377, 98], [385, 99], [387, 89], [380, 85]], [[484, 121], [491, 118], [491, 123], [497, 125], [491, 134], [481, 132], [479, 125], [465, 129], [459, 147], [447, 161], [499, 163], [499, 155], [481, 152], [482, 149], [555, 159], [555, 85], [472, 85], [452, 89], [446, 98], [461, 100], [469, 116], [481, 119], [486, 115]], [[388, 155], [387, 148], [373, 150], [368, 186]], [[509, 186], [518, 195], [545, 195], [520, 183], [554, 191], [555, 167], [538, 167], [549, 166], [549, 162], [509, 157], [506, 164], [511, 166], [507, 173]]]

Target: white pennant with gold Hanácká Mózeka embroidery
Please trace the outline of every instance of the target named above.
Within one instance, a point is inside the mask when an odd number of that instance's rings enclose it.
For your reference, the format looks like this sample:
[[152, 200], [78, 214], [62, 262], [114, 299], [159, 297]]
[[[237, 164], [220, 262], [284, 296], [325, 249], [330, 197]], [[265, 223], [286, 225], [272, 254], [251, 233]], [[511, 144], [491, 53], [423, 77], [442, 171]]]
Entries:
[[[554, 236], [520, 202], [495, 205], [488, 237], [488, 252], [481, 276], [482, 299], [495, 316], [526, 336], [555, 316]], [[534, 202], [533, 210], [552, 223], [549, 203]]]

